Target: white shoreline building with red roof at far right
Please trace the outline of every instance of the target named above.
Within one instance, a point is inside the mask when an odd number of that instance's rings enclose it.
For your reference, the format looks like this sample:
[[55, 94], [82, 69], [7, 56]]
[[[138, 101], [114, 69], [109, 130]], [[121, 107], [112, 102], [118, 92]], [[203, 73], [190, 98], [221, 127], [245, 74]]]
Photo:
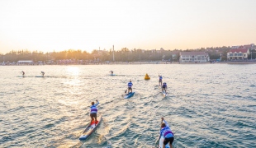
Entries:
[[227, 53], [228, 60], [243, 60], [248, 59], [249, 49], [230, 49], [230, 52]]

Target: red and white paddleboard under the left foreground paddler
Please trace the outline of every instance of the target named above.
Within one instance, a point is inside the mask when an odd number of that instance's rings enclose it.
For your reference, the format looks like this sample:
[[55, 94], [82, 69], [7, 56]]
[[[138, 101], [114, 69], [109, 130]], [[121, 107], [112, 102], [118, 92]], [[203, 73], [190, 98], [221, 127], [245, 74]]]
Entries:
[[94, 132], [96, 130], [96, 128], [102, 121], [102, 116], [99, 116], [98, 118], [99, 119], [97, 119], [98, 120], [97, 124], [95, 124], [95, 121], [92, 121], [92, 123], [90, 125], [88, 125], [88, 127], [85, 128], [82, 135], [79, 137], [80, 141], [86, 140], [88, 138], [88, 136], [90, 136], [92, 134], [92, 132]]

